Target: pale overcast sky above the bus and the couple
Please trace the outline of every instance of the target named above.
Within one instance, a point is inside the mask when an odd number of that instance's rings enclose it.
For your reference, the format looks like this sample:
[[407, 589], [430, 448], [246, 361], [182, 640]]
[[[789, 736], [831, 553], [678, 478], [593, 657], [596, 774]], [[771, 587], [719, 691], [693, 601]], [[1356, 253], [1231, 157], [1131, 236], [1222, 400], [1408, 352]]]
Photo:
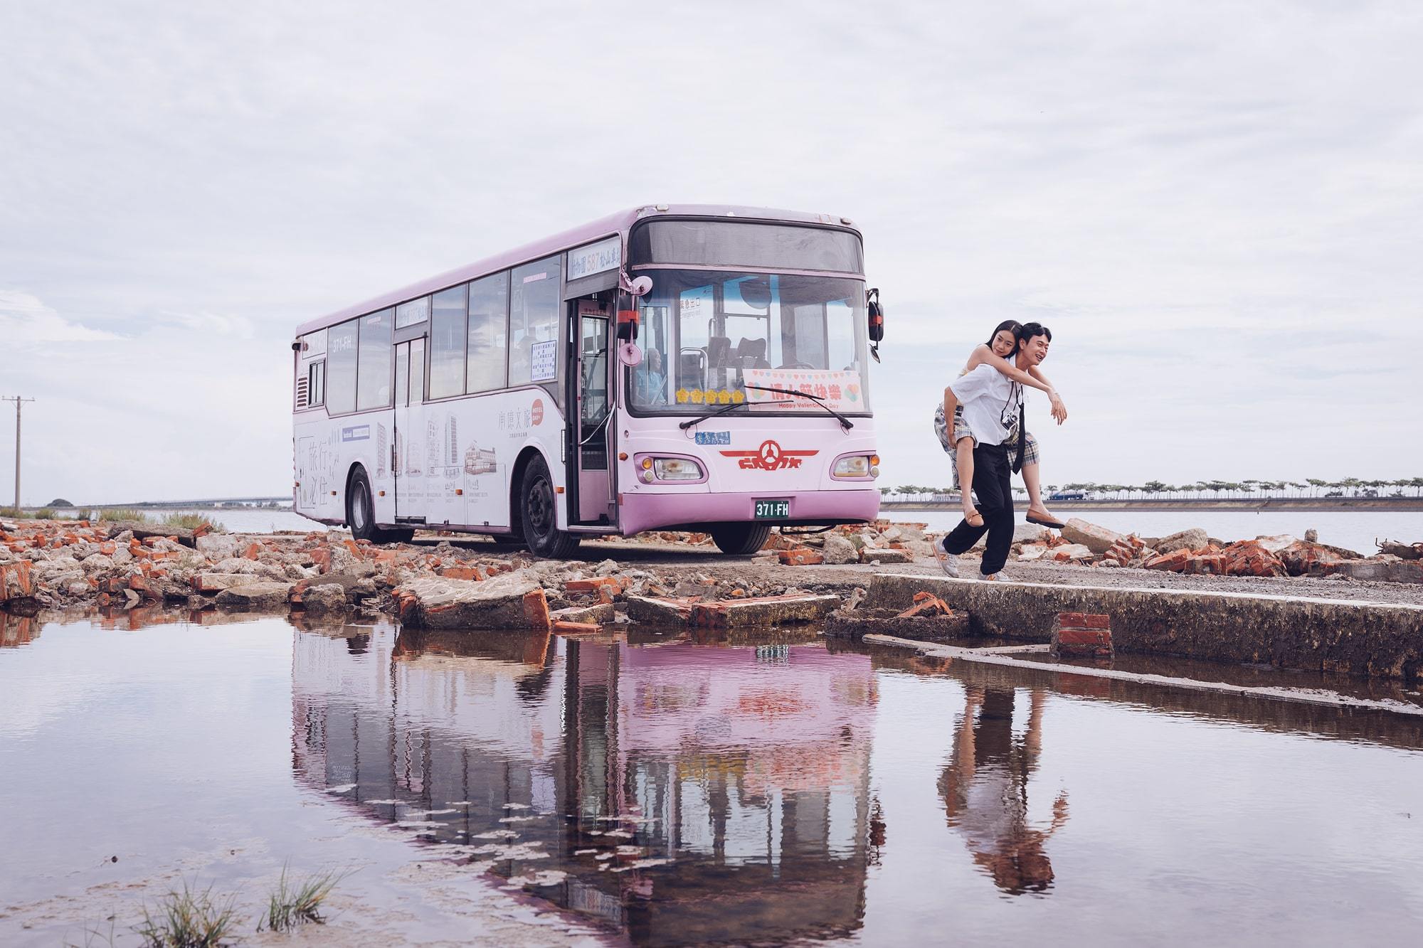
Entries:
[[1420, 475], [1419, 48], [1414, 1], [4, 3], [23, 500], [287, 494], [297, 323], [659, 201], [862, 228], [888, 485], [951, 481], [1009, 317], [1046, 483]]

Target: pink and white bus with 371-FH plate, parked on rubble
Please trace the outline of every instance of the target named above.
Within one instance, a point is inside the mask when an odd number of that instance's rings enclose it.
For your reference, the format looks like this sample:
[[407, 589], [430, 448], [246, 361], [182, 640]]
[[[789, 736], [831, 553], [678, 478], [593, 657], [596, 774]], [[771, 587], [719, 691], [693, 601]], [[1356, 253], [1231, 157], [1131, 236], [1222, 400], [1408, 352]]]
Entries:
[[296, 330], [296, 511], [376, 542], [490, 534], [541, 557], [875, 517], [848, 218], [649, 205]]

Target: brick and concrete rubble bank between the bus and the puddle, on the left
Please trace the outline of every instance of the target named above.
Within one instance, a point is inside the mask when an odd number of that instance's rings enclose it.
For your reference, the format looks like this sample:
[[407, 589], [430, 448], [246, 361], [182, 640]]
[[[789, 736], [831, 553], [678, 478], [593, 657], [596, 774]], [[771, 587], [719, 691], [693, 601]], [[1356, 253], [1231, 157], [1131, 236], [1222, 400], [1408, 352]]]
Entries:
[[[891, 542], [881, 532], [874, 538]], [[629, 604], [639, 596], [696, 602], [709, 625], [733, 626], [773, 612], [780, 618], [770, 621], [791, 621], [795, 609], [785, 612], [781, 601], [767, 605], [767, 598], [785, 594], [810, 595], [754, 571], [721, 578], [686, 569], [659, 574], [615, 559], [534, 561], [450, 542], [376, 547], [334, 531], [139, 538], [122, 524], [0, 524], [0, 605], [13, 612], [181, 604], [249, 612], [292, 608], [305, 619], [334, 622], [351, 612], [393, 612], [404, 623], [433, 629], [575, 633], [628, 622]]]

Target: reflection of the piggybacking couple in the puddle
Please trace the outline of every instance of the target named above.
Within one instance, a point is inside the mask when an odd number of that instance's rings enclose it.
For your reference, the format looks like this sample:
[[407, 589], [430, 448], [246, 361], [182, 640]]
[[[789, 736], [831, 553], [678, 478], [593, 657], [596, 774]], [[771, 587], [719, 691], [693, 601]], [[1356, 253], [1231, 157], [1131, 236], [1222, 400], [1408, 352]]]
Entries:
[[1067, 821], [1067, 793], [1057, 794], [1046, 827], [1027, 816], [1027, 783], [1042, 750], [1047, 693], [1033, 689], [1027, 730], [1013, 733], [1010, 688], [966, 686], [963, 717], [953, 734], [939, 794], [952, 830], [963, 836], [973, 861], [1012, 895], [1052, 887], [1047, 840]]

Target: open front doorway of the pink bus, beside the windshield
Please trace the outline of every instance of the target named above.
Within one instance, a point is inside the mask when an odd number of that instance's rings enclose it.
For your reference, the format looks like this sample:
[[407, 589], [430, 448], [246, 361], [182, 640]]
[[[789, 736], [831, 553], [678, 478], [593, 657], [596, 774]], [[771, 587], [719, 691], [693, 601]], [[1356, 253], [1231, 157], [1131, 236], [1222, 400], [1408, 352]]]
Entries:
[[573, 306], [571, 333], [575, 340], [573, 364], [568, 373], [575, 400], [573, 411], [569, 413], [572, 416], [569, 481], [576, 484], [576, 493], [568, 520], [571, 524], [606, 527], [613, 522], [612, 465], [608, 463], [612, 417], [608, 303], [579, 299]]

